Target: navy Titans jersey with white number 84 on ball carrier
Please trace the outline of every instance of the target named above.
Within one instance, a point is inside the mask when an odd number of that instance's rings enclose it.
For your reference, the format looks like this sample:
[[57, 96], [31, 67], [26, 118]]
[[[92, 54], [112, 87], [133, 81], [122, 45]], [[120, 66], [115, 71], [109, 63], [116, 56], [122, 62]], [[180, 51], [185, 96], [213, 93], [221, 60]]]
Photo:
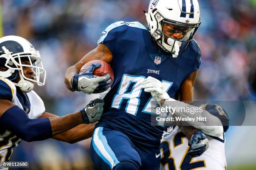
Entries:
[[151, 114], [155, 114], [151, 112], [153, 98], [143, 91], [141, 82], [154, 77], [174, 97], [181, 83], [200, 67], [200, 47], [193, 40], [182, 55], [174, 58], [156, 45], [141, 23], [123, 21], [106, 28], [100, 43], [112, 52], [110, 65], [115, 80], [104, 98], [104, 114], [96, 127], [119, 130], [135, 143], [156, 146], [164, 128], [151, 126]]

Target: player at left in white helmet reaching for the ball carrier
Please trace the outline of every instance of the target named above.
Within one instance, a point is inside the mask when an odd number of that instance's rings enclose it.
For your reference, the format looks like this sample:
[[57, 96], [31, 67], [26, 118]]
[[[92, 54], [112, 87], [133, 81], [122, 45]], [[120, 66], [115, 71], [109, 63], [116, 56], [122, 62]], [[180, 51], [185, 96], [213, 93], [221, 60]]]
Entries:
[[[0, 38], [0, 169], [10, 160], [21, 140], [54, 138], [69, 143], [90, 138], [104, 102], [96, 99], [80, 112], [57, 117], [45, 111], [44, 102], [33, 91], [33, 83], [44, 85], [46, 71], [38, 51], [18, 36]], [[93, 115], [89, 114], [89, 112]], [[88, 112], [88, 113], [87, 113]]]

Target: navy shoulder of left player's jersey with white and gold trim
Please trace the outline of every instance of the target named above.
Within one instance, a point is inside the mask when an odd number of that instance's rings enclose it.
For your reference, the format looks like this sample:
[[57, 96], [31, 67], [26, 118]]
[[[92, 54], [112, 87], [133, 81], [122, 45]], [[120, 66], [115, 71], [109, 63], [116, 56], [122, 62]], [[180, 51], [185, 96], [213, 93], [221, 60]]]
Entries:
[[16, 95], [16, 87], [10, 80], [0, 77], [0, 99], [12, 101]]

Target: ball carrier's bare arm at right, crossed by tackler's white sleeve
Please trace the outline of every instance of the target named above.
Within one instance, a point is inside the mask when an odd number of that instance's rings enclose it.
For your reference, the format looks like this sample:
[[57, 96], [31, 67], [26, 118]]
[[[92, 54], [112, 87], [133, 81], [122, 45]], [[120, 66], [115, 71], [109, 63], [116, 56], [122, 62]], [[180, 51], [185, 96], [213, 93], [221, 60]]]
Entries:
[[[194, 82], [197, 78], [197, 71], [192, 72], [186, 80], [182, 82], [179, 88], [179, 99], [180, 101], [184, 101], [186, 103], [192, 103], [193, 101], [193, 94], [194, 94]], [[182, 126], [179, 125], [180, 130], [187, 138], [190, 138], [191, 135], [198, 129], [194, 128], [193, 126]]]

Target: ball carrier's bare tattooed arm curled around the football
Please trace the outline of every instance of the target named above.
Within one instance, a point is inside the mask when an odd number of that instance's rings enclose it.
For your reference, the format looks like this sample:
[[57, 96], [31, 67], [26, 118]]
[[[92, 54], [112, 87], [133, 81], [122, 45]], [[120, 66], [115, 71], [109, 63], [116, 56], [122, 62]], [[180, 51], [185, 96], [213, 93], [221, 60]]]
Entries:
[[70, 80], [75, 75], [78, 74], [82, 66], [92, 60], [103, 60], [108, 64], [112, 61], [113, 56], [108, 47], [104, 44], [99, 44], [94, 50], [88, 52], [84, 57], [77, 62], [75, 65], [69, 67], [65, 74], [65, 85], [69, 90], [72, 90], [70, 87]]

